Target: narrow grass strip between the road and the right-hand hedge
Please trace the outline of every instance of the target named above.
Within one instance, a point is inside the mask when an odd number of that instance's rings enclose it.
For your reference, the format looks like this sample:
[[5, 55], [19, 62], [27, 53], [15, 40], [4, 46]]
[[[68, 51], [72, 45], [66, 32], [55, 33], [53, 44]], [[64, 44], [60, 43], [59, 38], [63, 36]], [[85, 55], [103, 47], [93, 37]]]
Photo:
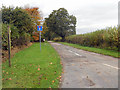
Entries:
[[100, 49], [100, 48], [94, 48], [94, 47], [80, 46], [77, 44], [71, 44], [71, 43], [66, 43], [66, 42], [59, 42], [59, 43], [64, 44], [64, 45], [68, 45], [68, 46], [72, 46], [74, 48], [90, 51], [90, 52], [95, 52], [95, 53], [99, 53], [99, 54], [103, 54], [103, 55], [113, 56], [116, 58], [119, 57], [118, 51], [114, 51], [114, 50], [106, 50], [106, 49]]

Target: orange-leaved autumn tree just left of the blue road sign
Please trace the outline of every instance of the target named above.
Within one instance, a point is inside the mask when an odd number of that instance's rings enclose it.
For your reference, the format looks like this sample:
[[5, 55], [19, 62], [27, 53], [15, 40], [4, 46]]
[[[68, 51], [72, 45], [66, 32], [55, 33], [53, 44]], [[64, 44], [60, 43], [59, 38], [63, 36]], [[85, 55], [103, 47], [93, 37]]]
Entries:
[[42, 24], [42, 12], [39, 11], [38, 7], [33, 7], [33, 8], [25, 8], [25, 10], [28, 12], [28, 14], [31, 16], [32, 21], [34, 22], [33, 25], [33, 38], [35, 41], [39, 40], [39, 33], [37, 32], [37, 26]]

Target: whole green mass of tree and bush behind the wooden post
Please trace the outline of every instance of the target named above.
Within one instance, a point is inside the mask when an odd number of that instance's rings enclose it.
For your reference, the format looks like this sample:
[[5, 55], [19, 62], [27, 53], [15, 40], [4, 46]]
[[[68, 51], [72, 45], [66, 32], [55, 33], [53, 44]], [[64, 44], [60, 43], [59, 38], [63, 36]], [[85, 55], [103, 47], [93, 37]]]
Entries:
[[31, 16], [22, 8], [2, 7], [2, 45], [7, 49], [8, 25], [11, 30], [11, 45], [20, 46], [27, 44], [33, 32]]

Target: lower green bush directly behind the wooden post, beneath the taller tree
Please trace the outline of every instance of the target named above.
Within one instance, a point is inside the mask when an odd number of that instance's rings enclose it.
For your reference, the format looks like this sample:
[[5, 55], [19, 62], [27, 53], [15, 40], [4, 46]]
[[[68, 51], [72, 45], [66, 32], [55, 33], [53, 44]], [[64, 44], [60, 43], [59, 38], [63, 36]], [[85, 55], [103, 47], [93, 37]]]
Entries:
[[11, 30], [11, 47], [15, 46], [21, 46], [21, 45], [27, 45], [30, 42], [30, 34], [29, 33], [24, 33], [24, 34], [19, 34], [19, 30], [17, 27], [14, 25], [10, 24], [3, 24], [2, 25], [2, 49], [7, 50], [7, 45], [8, 45], [8, 25], [10, 26]]

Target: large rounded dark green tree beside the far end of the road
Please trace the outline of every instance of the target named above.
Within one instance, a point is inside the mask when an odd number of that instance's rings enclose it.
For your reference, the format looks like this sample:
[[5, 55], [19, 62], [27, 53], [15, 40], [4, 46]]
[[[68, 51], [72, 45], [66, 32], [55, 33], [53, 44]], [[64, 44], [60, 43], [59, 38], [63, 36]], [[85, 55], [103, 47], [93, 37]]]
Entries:
[[48, 30], [62, 37], [62, 41], [65, 40], [65, 36], [75, 34], [76, 18], [70, 16], [64, 8], [54, 10], [45, 21]]

